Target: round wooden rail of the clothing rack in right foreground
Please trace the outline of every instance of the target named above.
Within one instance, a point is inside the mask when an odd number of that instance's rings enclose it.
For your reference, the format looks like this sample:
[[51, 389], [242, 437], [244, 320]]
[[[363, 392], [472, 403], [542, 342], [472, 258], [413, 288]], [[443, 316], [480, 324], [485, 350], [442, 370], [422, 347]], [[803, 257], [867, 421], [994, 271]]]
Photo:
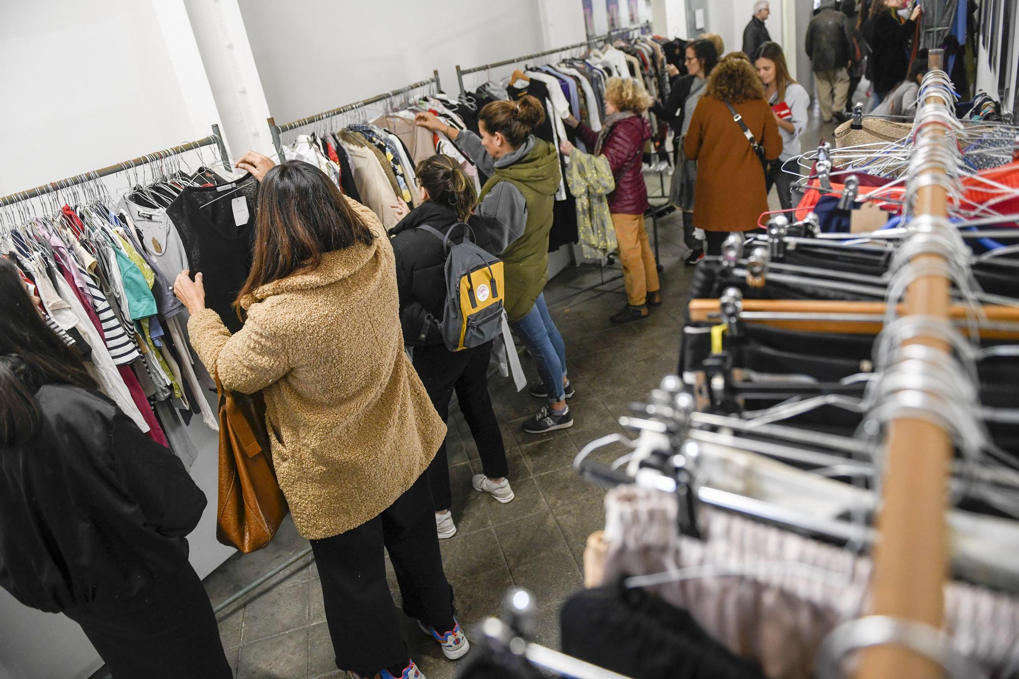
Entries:
[[[928, 64], [945, 75], [944, 50], [930, 50]], [[929, 82], [929, 79], [928, 79]], [[920, 168], [916, 181], [912, 223], [917, 230], [909, 239], [924, 239], [938, 228], [949, 228], [949, 176], [945, 154], [936, 153], [952, 141], [951, 121], [933, 117], [938, 102], [949, 102], [928, 91], [917, 110], [914, 163]], [[936, 94], [936, 93], [934, 93]], [[926, 110], [924, 110], [926, 109]], [[925, 115], [926, 113], [926, 115]], [[922, 242], [922, 241], [921, 241]], [[904, 316], [926, 317], [947, 322], [951, 305], [948, 261], [932, 249], [921, 251], [912, 263], [921, 273], [908, 286]], [[917, 332], [903, 345], [920, 345], [954, 360], [947, 343], [930, 330]], [[929, 399], [921, 385], [910, 396]], [[919, 409], [917, 409], [919, 410]], [[946, 525], [947, 479], [951, 474], [952, 436], [946, 428], [922, 413], [902, 409], [889, 423], [886, 439], [882, 504], [877, 517], [880, 539], [873, 554], [870, 585], [871, 616], [889, 617], [905, 625], [919, 623], [941, 630], [945, 613], [945, 582], [948, 579], [948, 529]], [[915, 646], [880, 640], [865, 649], [856, 674], [865, 679], [911, 677], [934, 679], [941, 668]]]

